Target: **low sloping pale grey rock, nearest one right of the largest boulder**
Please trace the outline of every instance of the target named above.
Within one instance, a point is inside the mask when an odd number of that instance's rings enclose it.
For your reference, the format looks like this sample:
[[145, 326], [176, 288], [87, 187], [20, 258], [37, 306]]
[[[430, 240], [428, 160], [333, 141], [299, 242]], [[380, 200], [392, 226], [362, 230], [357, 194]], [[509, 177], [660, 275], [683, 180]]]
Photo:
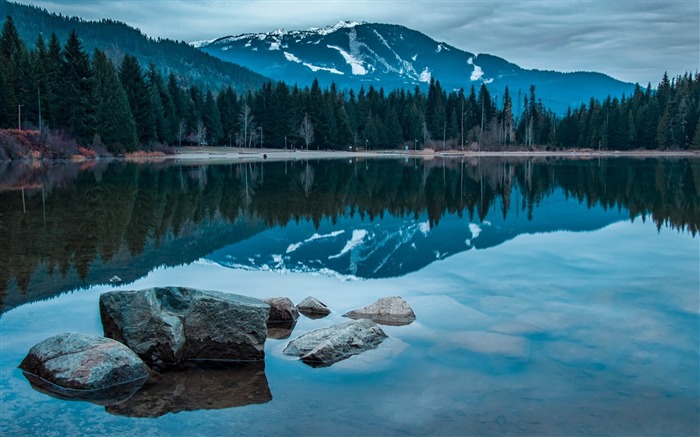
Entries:
[[326, 367], [379, 346], [387, 335], [371, 320], [353, 320], [308, 332], [289, 342], [285, 355], [312, 367]]

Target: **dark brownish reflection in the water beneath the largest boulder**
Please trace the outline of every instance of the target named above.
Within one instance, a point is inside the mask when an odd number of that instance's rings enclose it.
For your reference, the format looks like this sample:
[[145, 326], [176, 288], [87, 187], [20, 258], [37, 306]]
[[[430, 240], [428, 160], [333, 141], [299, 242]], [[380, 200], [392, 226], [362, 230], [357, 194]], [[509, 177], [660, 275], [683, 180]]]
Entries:
[[107, 407], [110, 414], [160, 417], [168, 413], [264, 404], [272, 400], [265, 362], [188, 362], [155, 374], [131, 399]]

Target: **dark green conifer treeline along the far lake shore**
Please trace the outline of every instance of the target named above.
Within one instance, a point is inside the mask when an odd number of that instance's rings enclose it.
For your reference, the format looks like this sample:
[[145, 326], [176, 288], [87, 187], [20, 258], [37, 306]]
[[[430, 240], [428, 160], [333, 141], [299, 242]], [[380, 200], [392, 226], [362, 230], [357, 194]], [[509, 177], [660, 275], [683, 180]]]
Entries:
[[449, 91], [322, 89], [267, 82], [184, 86], [130, 54], [87, 53], [71, 32], [32, 47], [8, 16], [0, 35], [0, 160], [121, 156], [172, 146], [311, 150], [700, 150], [700, 74], [591, 99], [555, 114], [537, 96], [484, 83]]

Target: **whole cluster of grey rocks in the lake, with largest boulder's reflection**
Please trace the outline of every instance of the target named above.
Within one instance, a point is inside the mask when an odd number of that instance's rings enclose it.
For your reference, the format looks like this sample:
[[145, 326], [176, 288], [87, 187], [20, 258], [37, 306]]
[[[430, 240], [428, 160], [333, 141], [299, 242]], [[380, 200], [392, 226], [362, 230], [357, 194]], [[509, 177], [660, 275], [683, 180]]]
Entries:
[[[99, 306], [105, 337], [56, 335], [33, 346], [19, 367], [37, 390], [130, 416], [269, 401], [265, 340], [289, 337], [300, 313], [312, 319], [331, 313], [313, 297], [294, 305], [285, 297], [259, 300], [182, 287], [107, 292], [100, 295]], [[387, 335], [377, 323], [415, 320], [400, 297], [379, 299], [344, 316], [355, 320], [301, 335], [283, 353], [314, 367], [330, 366], [378, 347]], [[200, 383], [212, 375], [221, 384]], [[192, 395], [168, 397], [182, 381], [192, 382], [186, 384]], [[211, 393], [203, 387], [232, 385], [243, 394]], [[221, 405], [212, 406], [211, 399], [220, 399]], [[159, 408], [144, 410], [142, 405]]]

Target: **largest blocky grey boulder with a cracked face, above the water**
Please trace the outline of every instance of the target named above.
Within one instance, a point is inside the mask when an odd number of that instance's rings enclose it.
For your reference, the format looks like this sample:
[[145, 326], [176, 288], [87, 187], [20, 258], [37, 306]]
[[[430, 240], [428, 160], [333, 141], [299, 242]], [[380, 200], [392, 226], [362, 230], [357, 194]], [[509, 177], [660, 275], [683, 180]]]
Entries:
[[100, 295], [105, 336], [159, 366], [264, 359], [269, 310], [258, 299], [181, 287]]

